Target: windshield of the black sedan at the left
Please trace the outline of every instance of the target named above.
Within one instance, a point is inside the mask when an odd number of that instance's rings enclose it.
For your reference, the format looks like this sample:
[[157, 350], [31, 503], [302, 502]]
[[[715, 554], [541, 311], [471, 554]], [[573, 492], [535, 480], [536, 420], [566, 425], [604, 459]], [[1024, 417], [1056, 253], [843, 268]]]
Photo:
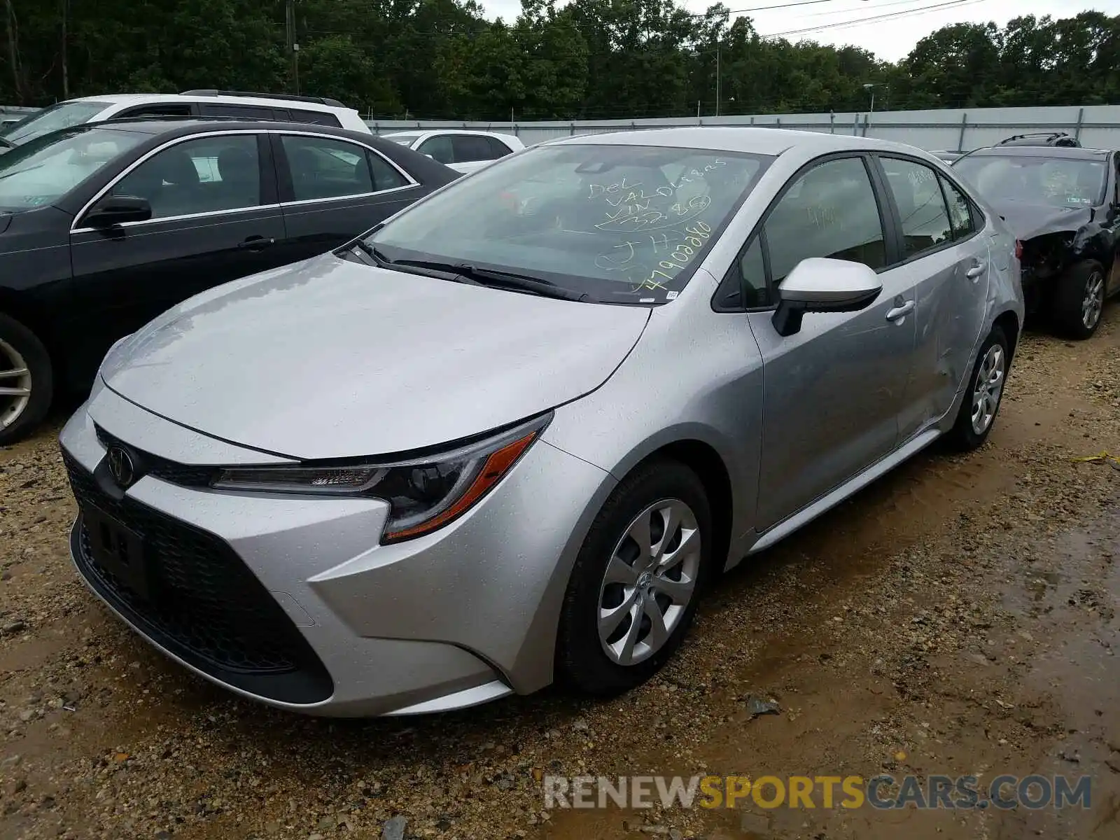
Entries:
[[148, 138], [137, 131], [73, 128], [18, 146], [0, 155], [0, 211], [50, 204]]

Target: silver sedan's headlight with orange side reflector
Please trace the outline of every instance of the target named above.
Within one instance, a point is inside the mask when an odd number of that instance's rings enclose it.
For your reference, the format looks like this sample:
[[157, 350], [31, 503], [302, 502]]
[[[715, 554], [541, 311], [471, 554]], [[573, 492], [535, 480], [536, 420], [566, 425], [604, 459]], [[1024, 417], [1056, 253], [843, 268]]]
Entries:
[[551, 412], [452, 450], [400, 461], [223, 469], [215, 489], [372, 496], [391, 510], [383, 543], [435, 531], [496, 485], [552, 419]]

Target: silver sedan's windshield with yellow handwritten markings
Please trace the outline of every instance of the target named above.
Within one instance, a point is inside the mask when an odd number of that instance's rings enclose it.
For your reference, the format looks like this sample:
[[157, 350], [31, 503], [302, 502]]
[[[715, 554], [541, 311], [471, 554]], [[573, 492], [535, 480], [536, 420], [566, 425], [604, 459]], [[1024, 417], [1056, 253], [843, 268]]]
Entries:
[[368, 237], [390, 260], [468, 264], [612, 304], [676, 297], [772, 157], [542, 146], [482, 169]]

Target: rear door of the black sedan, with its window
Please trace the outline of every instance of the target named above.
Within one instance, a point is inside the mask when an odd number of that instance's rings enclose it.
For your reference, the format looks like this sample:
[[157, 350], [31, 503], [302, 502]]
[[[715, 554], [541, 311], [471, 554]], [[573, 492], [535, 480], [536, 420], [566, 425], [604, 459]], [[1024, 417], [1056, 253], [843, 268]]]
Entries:
[[329, 134], [271, 134], [288, 236], [287, 261], [325, 253], [414, 202], [426, 189], [376, 150]]

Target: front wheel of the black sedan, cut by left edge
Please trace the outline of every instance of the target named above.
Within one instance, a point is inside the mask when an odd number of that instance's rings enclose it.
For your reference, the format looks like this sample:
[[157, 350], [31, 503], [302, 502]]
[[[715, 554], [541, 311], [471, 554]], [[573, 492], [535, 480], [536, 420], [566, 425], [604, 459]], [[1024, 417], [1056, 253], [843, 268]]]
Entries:
[[[22, 373], [20, 373], [22, 372]], [[50, 408], [54, 372], [43, 342], [15, 318], [0, 312], [0, 446], [15, 444], [39, 424]]]

